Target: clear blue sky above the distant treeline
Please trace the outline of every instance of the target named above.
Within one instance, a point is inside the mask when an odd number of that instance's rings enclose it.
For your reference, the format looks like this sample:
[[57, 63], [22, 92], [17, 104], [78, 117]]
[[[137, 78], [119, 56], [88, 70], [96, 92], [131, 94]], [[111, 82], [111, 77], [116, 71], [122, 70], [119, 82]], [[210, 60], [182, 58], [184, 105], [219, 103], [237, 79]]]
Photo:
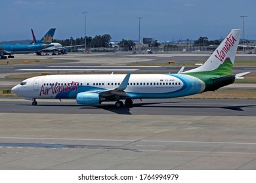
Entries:
[[[54, 39], [109, 34], [112, 41], [151, 37], [158, 41], [209, 40], [243, 29], [256, 40], [255, 0], [1, 0], [0, 41], [37, 39], [56, 28]], [[242, 33], [243, 37], [243, 33]]]

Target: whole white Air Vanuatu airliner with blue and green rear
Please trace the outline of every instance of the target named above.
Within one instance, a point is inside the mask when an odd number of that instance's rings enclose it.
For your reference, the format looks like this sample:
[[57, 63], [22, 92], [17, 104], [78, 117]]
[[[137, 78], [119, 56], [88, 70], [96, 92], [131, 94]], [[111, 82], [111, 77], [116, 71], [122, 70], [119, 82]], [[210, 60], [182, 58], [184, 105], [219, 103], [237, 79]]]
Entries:
[[121, 100], [131, 106], [134, 99], [163, 99], [215, 91], [249, 73], [231, 74], [240, 34], [241, 29], [232, 29], [202, 66], [179, 74], [36, 76], [14, 86], [12, 92], [33, 99], [32, 105], [37, 105], [36, 99], [76, 99], [81, 105], [116, 101], [116, 107], [122, 107]]

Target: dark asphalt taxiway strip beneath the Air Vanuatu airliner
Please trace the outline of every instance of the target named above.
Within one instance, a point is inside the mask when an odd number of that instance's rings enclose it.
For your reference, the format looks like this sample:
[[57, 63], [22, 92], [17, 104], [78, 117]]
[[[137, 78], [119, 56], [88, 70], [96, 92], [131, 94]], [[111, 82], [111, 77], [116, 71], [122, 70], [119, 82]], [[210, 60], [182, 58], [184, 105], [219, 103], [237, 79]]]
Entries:
[[133, 107], [116, 108], [114, 102], [102, 105], [78, 105], [74, 100], [0, 99], [1, 112], [42, 114], [127, 114], [127, 115], [210, 115], [256, 116], [256, 100], [252, 99], [139, 99]]

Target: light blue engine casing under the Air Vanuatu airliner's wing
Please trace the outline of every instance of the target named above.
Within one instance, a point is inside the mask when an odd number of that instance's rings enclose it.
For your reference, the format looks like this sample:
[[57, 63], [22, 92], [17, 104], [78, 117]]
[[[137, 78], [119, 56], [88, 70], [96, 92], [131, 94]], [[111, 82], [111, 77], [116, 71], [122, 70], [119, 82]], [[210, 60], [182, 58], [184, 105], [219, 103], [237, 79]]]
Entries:
[[97, 93], [78, 93], [76, 102], [81, 105], [98, 105], [100, 104], [100, 95]]

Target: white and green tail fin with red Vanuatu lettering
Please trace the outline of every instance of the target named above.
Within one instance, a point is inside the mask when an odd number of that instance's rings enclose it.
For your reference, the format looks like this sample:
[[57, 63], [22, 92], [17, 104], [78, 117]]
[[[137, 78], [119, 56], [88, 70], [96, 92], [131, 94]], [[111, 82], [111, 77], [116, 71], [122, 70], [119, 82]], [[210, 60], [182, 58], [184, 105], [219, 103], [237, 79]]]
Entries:
[[232, 29], [202, 66], [183, 73], [188, 75], [231, 75], [241, 32], [241, 29]]

